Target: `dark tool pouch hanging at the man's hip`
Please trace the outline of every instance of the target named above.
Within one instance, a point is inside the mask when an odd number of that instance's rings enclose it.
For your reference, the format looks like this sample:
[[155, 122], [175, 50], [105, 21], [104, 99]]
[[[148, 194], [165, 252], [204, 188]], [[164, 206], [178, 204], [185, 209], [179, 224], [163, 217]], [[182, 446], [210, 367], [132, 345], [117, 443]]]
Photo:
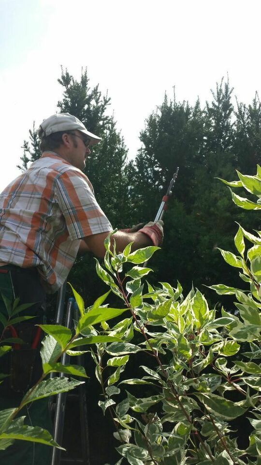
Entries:
[[9, 386], [13, 392], [26, 392], [41, 376], [41, 366], [37, 363], [39, 350], [20, 349], [10, 352]]

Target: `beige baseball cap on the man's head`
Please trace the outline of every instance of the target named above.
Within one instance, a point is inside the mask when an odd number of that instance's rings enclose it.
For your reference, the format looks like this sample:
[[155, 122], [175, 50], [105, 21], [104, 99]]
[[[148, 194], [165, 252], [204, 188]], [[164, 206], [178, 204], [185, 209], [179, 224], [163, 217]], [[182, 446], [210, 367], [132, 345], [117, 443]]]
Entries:
[[46, 120], [43, 120], [43, 123], [40, 124], [38, 130], [38, 136], [40, 139], [43, 136], [50, 136], [54, 132], [58, 131], [72, 131], [77, 129], [77, 131], [86, 134], [90, 138], [90, 144], [97, 144], [102, 140], [100, 137], [95, 136], [91, 132], [87, 131], [85, 125], [76, 118], [76, 116], [70, 115], [70, 113], [57, 113], [55, 115], [49, 116]]

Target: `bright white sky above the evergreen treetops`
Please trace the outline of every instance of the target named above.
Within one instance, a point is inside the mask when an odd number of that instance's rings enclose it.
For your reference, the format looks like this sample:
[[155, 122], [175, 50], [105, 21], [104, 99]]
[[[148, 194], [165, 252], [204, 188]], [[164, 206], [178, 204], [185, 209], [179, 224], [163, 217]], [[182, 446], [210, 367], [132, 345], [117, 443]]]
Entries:
[[108, 89], [129, 155], [167, 91], [202, 106], [229, 73], [239, 100], [261, 90], [260, 0], [0, 0], [0, 190], [33, 121], [56, 112], [60, 65]]

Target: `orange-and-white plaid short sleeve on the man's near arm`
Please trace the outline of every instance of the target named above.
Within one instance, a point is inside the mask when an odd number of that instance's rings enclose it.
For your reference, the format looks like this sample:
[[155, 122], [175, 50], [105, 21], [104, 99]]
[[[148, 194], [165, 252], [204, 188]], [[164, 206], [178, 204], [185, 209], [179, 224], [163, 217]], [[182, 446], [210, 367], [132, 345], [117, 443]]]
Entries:
[[91, 184], [81, 171], [70, 169], [56, 179], [56, 200], [71, 240], [112, 231], [112, 225], [97, 203]]

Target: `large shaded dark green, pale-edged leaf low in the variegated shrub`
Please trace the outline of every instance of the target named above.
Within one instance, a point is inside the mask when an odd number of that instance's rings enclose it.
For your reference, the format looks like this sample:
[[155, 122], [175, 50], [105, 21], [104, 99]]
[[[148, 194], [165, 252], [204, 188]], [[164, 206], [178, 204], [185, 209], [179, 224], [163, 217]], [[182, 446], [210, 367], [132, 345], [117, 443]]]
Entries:
[[195, 394], [195, 396], [203, 403], [206, 409], [217, 416], [225, 420], [232, 420], [240, 415], [243, 415], [246, 410], [235, 402], [228, 401], [223, 397], [217, 396], [216, 394]]

